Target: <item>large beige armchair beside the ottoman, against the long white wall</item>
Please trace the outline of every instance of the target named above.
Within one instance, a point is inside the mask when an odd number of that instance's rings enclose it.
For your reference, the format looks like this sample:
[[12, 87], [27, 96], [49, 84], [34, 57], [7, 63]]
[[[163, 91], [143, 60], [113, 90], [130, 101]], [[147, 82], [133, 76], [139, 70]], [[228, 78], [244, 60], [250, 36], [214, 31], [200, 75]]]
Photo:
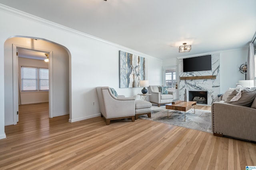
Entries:
[[115, 90], [109, 87], [97, 87], [96, 90], [100, 113], [105, 117], [106, 125], [116, 119], [131, 118], [135, 121], [135, 98], [117, 96]]

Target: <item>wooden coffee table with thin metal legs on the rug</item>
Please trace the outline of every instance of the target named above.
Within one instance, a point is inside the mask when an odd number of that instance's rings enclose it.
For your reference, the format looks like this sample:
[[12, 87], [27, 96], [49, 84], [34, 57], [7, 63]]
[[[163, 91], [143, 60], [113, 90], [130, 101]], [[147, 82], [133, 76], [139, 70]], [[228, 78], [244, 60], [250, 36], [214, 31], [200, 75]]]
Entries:
[[[168, 109], [169, 114], [169, 109], [172, 110], [178, 110], [178, 111], [184, 111], [184, 121], [186, 121], [186, 111], [190, 110], [194, 106], [194, 114], [196, 113], [196, 102], [180, 102], [178, 104], [166, 104], [165, 108]], [[171, 115], [170, 115], [171, 116]]]

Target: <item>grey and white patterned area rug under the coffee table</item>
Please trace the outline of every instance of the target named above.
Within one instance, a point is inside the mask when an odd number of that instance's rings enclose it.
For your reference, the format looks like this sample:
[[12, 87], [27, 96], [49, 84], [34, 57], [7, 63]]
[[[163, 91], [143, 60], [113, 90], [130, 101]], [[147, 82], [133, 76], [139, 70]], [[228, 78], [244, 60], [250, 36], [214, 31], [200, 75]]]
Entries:
[[139, 117], [169, 125], [212, 133], [211, 111], [196, 109], [196, 113], [194, 114], [194, 109], [190, 109], [186, 111], [186, 121], [184, 121], [184, 111], [169, 110], [169, 116], [167, 116], [167, 113], [168, 110], [165, 109], [165, 106], [152, 106], [150, 118], [148, 118], [148, 115], [140, 115]]

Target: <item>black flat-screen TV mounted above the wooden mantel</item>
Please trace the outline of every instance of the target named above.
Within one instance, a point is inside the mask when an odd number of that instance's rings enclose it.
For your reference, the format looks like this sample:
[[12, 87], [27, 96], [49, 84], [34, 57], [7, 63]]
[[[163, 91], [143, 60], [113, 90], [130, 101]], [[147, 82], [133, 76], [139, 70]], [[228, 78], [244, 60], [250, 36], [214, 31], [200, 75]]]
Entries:
[[183, 59], [183, 72], [212, 70], [212, 55]]

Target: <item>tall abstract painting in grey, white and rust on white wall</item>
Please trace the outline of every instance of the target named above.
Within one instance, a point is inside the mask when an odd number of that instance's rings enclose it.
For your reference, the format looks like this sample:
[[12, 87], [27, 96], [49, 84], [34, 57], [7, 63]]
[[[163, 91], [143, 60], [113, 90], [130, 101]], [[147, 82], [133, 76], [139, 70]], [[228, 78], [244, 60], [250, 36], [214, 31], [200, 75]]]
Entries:
[[145, 58], [119, 51], [119, 87], [140, 87], [140, 80], [145, 80]]

